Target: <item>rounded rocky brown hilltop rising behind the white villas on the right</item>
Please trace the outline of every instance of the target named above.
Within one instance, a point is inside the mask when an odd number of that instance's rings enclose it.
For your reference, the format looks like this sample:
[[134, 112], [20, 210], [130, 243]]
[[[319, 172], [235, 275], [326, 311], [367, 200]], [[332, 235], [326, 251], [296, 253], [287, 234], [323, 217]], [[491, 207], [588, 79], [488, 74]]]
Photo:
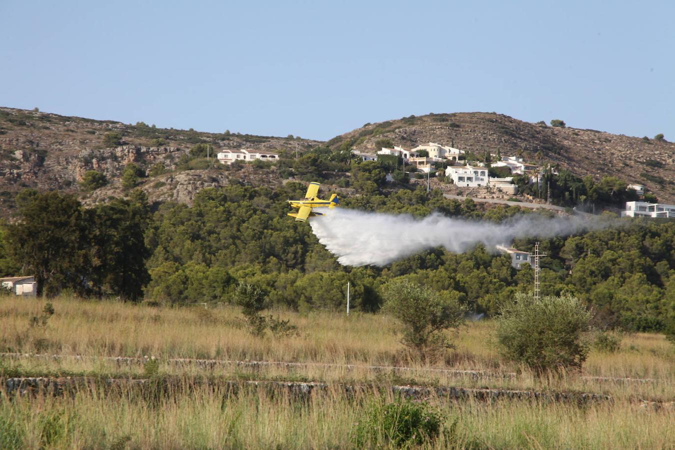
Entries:
[[551, 127], [495, 113], [452, 113], [367, 123], [328, 144], [335, 148], [351, 145], [373, 152], [376, 142], [383, 139], [405, 148], [431, 141], [479, 155], [497, 150], [502, 156], [520, 152], [534, 163], [541, 159], [541, 163], [559, 165], [579, 176], [615, 175], [628, 183], [643, 184], [659, 201], [675, 203], [672, 142]]

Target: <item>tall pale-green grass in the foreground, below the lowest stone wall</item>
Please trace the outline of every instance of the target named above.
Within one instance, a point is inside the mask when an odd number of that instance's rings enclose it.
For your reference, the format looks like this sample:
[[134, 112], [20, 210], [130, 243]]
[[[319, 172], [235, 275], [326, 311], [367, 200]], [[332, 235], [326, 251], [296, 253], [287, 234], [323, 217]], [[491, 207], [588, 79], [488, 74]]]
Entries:
[[[393, 401], [391, 395], [385, 401]], [[297, 401], [264, 392], [196, 387], [147, 401], [80, 392], [0, 401], [3, 448], [354, 448], [367, 397], [332, 391]], [[629, 403], [446, 403], [430, 399], [446, 428], [430, 448], [672, 448], [674, 416]], [[377, 434], [378, 430], [375, 430]], [[383, 433], [379, 433], [383, 434]]]

